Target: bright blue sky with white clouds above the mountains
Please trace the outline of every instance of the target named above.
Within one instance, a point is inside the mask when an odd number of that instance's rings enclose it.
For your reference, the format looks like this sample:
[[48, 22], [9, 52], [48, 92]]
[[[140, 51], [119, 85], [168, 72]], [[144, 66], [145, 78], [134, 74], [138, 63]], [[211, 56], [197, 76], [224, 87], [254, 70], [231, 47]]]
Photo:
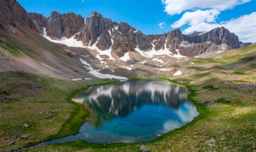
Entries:
[[46, 17], [52, 11], [73, 12], [87, 18], [99, 12], [127, 22], [145, 34], [174, 29], [182, 33], [208, 32], [224, 26], [243, 42], [256, 42], [256, 0], [17, 0], [27, 12]]

